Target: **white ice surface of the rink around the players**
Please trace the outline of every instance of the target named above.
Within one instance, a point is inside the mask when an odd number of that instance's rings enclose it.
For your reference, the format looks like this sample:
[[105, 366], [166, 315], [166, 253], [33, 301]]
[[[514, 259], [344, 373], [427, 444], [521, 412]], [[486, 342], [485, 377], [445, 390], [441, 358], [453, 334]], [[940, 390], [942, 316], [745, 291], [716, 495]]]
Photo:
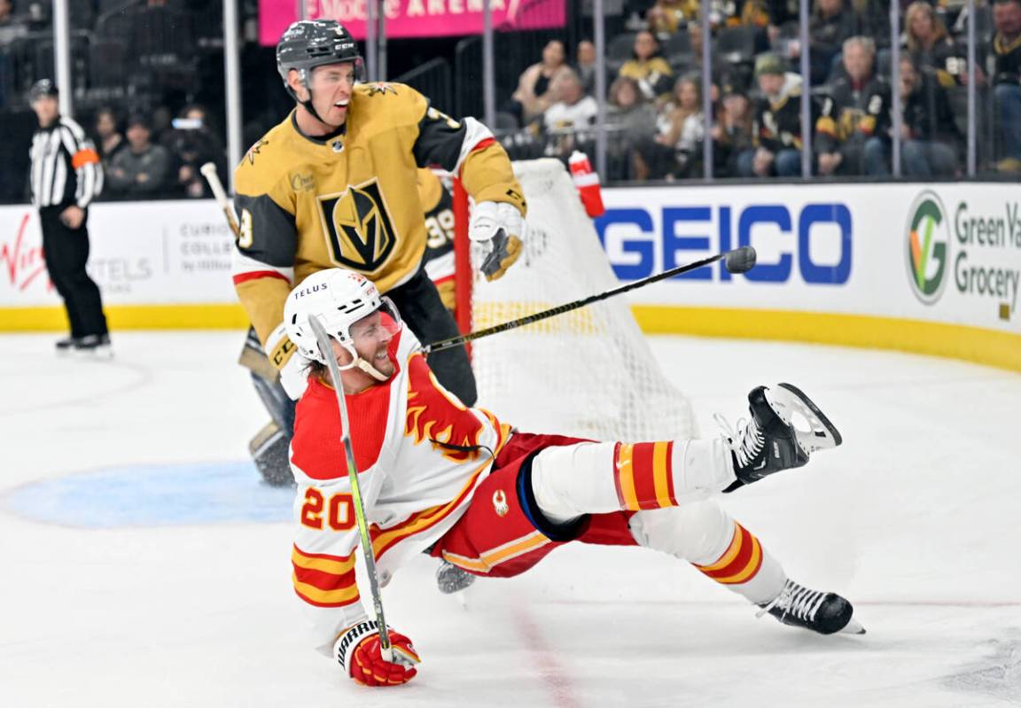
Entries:
[[[1015, 373], [657, 339], [704, 434], [714, 411], [733, 420], [751, 387], [777, 381], [840, 427], [841, 448], [724, 503], [792, 577], [849, 598], [868, 634], [757, 619], [648, 551], [567, 547], [527, 575], [479, 580], [467, 609], [421, 558], [384, 593], [421, 673], [369, 690], [306, 648], [287, 523], [85, 528], [17, 508], [41, 481], [89, 470], [245, 460], [265, 415], [232, 364], [241, 335], [114, 333], [108, 363], [58, 359], [52, 340], [0, 338], [0, 706], [1021, 704]], [[237, 487], [273, 494], [254, 469]], [[136, 496], [143, 512], [161, 503]]]

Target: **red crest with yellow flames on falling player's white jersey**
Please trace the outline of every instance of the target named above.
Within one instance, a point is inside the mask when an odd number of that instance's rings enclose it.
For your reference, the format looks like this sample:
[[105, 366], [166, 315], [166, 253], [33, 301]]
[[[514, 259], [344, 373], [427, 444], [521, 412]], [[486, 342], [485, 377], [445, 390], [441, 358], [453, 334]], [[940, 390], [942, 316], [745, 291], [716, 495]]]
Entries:
[[446, 445], [478, 448], [485, 429], [482, 421], [446, 391], [433, 374], [426, 358], [414, 354], [408, 360], [407, 421], [404, 435], [416, 445], [430, 441], [452, 462], [471, 462], [479, 458], [479, 450], [452, 450]]

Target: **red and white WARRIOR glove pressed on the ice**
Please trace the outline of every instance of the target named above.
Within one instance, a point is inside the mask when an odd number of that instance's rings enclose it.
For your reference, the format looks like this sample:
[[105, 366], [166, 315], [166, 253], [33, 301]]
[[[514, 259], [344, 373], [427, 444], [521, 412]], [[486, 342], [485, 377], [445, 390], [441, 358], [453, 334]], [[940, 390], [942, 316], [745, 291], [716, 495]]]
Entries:
[[411, 680], [421, 661], [411, 640], [389, 630], [393, 661], [386, 661], [380, 649], [379, 625], [373, 620], [358, 622], [344, 630], [333, 645], [341, 668], [362, 686], [398, 686]]

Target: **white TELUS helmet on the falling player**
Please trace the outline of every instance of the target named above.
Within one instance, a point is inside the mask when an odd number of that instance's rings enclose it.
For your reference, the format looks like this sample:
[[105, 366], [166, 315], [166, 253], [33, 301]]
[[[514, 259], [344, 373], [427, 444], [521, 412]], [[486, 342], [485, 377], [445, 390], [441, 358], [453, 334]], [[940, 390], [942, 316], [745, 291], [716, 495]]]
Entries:
[[329, 268], [312, 273], [287, 296], [287, 302], [284, 303], [284, 326], [299, 354], [325, 364], [326, 359], [323, 358], [315, 335], [308, 324], [310, 316], [318, 316], [327, 334], [351, 352], [355, 359], [351, 365], [364, 368], [357, 363], [362, 360], [354, 350], [351, 325], [380, 309], [400, 326], [400, 315], [396, 308], [389, 298], [380, 296], [372, 281], [353, 270]]

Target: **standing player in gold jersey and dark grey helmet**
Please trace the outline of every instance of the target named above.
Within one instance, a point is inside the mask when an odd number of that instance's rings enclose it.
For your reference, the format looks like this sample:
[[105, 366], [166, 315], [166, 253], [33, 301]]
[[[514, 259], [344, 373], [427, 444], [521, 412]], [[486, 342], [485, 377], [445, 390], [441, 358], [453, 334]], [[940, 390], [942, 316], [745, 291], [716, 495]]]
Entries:
[[[291, 24], [277, 46], [277, 68], [297, 105], [235, 171], [234, 285], [296, 399], [305, 362], [284, 330], [284, 300], [313, 272], [342, 266], [370, 279], [423, 341], [458, 334], [422, 268], [419, 167], [459, 174], [476, 204], [469, 234], [488, 244], [482, 271], [490, 279], [521, 251], [525, 201], [506, 153], [480, 122], [445, 115], [407, 86], [356, 84], [361, 57], [336, 21]], [[430, 364], [445, 388], [475, 403], [463, 348], [438, 353]]]

